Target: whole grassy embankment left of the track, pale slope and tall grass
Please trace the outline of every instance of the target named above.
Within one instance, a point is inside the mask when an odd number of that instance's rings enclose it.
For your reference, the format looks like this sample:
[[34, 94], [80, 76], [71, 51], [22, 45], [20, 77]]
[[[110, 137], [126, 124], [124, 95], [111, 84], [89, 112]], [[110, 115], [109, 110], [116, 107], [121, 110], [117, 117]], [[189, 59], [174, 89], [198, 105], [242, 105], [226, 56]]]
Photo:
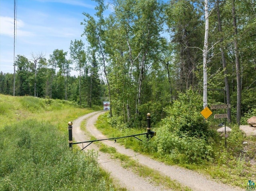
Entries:
[[68, 121], [89, 112], [63, 100], [0, 95], [0, 190], [126, 190], [95, 153], [68, 148]]

